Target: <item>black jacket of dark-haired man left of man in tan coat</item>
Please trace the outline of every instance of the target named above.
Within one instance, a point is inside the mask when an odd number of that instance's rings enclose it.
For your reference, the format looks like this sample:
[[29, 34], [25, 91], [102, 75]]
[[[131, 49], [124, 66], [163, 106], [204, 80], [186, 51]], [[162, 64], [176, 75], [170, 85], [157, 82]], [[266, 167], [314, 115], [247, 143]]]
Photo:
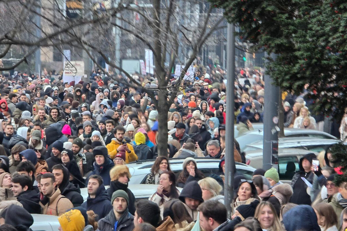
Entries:
[[23, 208], [29, 213], [41, 214], [41, 206], [39, 204], [40, 197], [36, 190], [28, 189], [23, 191], [18, 195], [17, 201], [19, 201], [23, 205]]

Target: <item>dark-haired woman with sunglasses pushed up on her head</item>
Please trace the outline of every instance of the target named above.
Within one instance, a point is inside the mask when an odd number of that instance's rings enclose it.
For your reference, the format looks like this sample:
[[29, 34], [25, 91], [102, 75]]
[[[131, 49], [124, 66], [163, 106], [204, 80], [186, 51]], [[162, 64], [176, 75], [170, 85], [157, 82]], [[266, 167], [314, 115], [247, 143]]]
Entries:
[[234, 209], [240, 205], [248, 205], [253, 201], [261, 201], [257, 194], [257, 189], [252, 180], [241, 179], [237, 189], [237, 197], [234, 200]]

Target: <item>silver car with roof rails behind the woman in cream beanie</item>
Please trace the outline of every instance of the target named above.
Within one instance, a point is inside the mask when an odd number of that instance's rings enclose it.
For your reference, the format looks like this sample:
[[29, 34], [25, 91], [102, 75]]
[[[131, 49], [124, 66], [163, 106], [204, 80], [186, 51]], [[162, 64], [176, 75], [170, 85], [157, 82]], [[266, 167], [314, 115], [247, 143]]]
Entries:
[[[176, 176], [183, 170], [183, 161], [185, 158], [173, 158], [169, 159], [170, 169], [175, 172]], [[211, 174], [220, 175], [219, 171], [219, 162], [220, 159], [215, 158], [194, 158], [197, 163], [197, 168], [203, 172], [205, 176], [210, 176]], [[155, 160], [144, 160], [144, 161], [135, 161], [128, 163], [130, 174], [129, 185], [132, 184], [145, 184], [147, 175], [150, 174], [151, 168]], [[254, 168], [251, 166], [245, 165], [244, 163], [236, 162], [236, 171], [244, 174], [246, 178], [251, 179]]]

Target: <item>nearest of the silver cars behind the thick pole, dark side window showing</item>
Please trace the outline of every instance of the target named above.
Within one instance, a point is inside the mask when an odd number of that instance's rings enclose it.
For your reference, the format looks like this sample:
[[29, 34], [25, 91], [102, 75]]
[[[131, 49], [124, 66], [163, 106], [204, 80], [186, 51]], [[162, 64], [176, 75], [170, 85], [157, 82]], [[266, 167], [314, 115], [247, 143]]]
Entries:
[[[295, 171], [299, 170], [299, 160], [308, 153], [312, 152], [305, 149], [285, 148], [278, 150], [278, 175], [282, 182], [291, 181]], [[263, 150], [250, 151], [246, 154], [246, 162], [254, 168], [263, 167]]]

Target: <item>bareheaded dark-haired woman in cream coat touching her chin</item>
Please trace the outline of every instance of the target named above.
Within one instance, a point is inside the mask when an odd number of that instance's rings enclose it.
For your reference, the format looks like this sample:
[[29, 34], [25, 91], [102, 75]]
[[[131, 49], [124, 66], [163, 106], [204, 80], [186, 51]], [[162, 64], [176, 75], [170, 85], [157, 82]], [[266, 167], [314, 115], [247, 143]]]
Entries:
[[176, 176], [172, 171], [164, 171], [159, 177], [159, 186], [156, 192], [149, 198], [158, 204], [160, 215], [163, 217], [164, 203], [171, 199], [178, 199], [179, 191], [176, 188]]

